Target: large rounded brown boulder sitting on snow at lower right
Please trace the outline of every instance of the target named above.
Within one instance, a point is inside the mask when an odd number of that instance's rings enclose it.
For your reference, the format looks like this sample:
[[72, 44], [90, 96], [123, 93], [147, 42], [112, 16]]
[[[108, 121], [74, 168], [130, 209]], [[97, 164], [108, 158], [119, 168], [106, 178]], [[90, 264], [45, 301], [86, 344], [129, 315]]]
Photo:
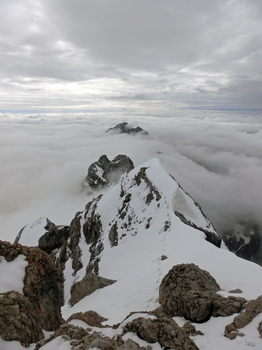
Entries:
[[220, 290], [215, 279], [194, 264], [174, 266], [159, 287], [159, 302], [169, 316], [204, 322], [213, 311], [213, 295]]

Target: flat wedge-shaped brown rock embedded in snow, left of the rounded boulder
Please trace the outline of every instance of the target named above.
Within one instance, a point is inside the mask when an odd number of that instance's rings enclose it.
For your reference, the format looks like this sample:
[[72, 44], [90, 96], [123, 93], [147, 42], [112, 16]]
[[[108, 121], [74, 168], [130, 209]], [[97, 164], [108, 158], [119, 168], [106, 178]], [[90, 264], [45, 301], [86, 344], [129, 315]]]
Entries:
[[95, 290], [110, 286], [115, 282], [115, 280], [110, 280], [97, 276], [94, 273], [89, 273], [80, 282], [73, 284], [69, 303], [75, 305], [85, 296], [92, 294]]

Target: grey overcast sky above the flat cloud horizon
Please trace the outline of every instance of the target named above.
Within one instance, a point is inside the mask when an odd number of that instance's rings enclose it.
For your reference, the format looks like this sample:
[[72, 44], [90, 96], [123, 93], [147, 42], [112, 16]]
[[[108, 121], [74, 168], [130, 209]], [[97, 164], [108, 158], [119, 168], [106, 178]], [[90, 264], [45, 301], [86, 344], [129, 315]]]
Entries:
[[0, 0], [0, 111], [261, 109], [261, 0]]

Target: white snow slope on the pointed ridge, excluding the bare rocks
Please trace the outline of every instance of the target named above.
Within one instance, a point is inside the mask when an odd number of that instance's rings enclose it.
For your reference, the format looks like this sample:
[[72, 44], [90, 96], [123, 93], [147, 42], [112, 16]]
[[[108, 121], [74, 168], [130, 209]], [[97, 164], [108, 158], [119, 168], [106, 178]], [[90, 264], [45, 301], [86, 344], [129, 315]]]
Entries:
[[[91, 211], [99, 216], [102, 223], [99, 243], [103, 249], [98, 255], [99, 275], [116, 282], [70, 306], [68, 300], [72, 283], [85, 276], [91, 259], [90, 244], [86, 243], [83, 232]], [[192, 225], [185, 224], [175, 212]], [[62, 309], [65, 319], [75, 312], [94, 310], [108, 319], [105, 324], [113, 325], [122, 322], [132, 311], [153, 310], [159, 306], [158, 290], [162, 278], [180, 263], [194, 263], [208, 271], [220, 285], [223, 296], [228, 296], [229, 291], [236, 288], [243, 291], [238, 296], [247, 300], [262, 294], [262, 268], [206, 240], [203, 231], [216, 235], [215, 229], [199, 206], [166, 173], [158, 159], [152, 159], [122, 176], [116, 186], [93, 201], [89, 209], [79, 214], [79, 218], [83, 268], [73, 273], [72, 260], [66, 263], [66, 304]], [[112, 244], [110, 239], [114, 225], [117, 228], [117, 244]], [[193, 337], [196, 345], [202, 350], [261, 349], [262, 339], [256, 328], [262, 316], [257, 316], [241, 329], [243, 337], [231, 341], [223, 334], [234, 316], [212, 317], [206, 323], [197, 324], [196, 328], [204, 336]], [[180, 325], [185, 322], [183, 318], [176, 317], [175, 320]], [[80, 321], [72, 321], [77, 322]], [[109, 332], [110, 336], [120, 330], [99, 329], [106, 335]], [[128, 336], [139, 342], [133, 334]], [[145, 345], [142, 341], [140, 344]], [[151, 345], [153, 349], [160, 349], [159, 344]], [[56, 339], [42, 349], [55, 347], [68, 349], [68, 343], [63, 345], [61, 339]], [[9, 350], [8, 347], [4, 349]]]

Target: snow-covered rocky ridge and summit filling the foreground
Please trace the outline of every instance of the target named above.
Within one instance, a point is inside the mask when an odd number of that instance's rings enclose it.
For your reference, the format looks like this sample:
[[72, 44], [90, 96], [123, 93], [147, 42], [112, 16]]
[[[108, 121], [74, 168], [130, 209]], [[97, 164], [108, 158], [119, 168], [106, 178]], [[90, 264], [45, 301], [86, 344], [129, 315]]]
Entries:
[[[20, 245], [29, 237], [34, 247]], [[69, 226], [28, 224], [14, 245], [1, 243], [1, 262], [24, 275], [20, 289], [3, 283], [0, 348], [262, 346], [261, 267], [225, 248], [158, 159], [105, 187]], [[22, 307], [30, 303], [33, 312]]]

